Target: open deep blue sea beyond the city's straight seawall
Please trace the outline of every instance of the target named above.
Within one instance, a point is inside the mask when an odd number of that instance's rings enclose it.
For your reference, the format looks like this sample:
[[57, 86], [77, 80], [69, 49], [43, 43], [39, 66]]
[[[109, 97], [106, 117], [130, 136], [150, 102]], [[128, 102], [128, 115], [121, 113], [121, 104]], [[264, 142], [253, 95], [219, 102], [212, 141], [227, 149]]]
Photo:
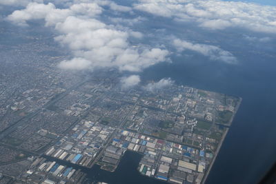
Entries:
[[239, 57], [239, 64], [179, 58], [146, 70], [144, 79], [171, 77], [178, 84], [242, 97], [206, 183], [257, 183], [276, 161], [275, 58]]

